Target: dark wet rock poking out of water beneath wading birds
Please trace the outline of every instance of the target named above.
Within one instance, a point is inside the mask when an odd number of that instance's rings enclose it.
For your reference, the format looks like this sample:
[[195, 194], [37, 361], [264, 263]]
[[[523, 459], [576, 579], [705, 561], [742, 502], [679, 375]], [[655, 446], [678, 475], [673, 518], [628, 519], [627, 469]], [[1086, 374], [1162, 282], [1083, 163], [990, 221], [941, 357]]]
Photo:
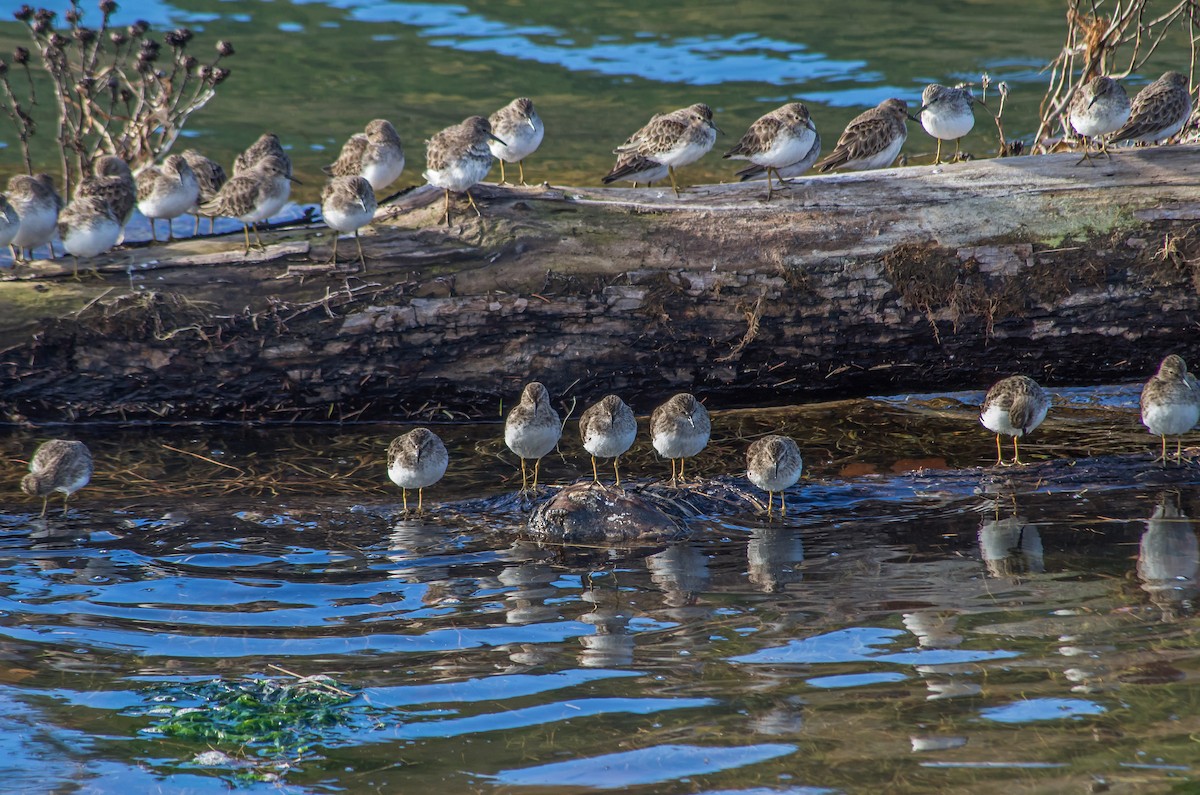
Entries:
[[635, 491], [575, 483], [538, 506], [529, 518], [528, 533], [544, 543], [613, 546], [686, 538], [689, 531], [683, 522], [656, 502]]

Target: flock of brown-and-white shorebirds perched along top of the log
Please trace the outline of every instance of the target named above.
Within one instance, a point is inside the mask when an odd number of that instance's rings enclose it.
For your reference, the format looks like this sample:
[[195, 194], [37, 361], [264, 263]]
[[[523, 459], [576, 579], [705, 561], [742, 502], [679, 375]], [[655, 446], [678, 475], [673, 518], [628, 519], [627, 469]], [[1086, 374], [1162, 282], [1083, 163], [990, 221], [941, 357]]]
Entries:
[[[778, 185], [814, 167], [818, 172], [889, 167], [907, 138], [910, 119], [937, 141], [935, 162], [941, 162], [943, 142], [955, 142], [958, 157], [959, 141], [974, 126], [977, 102], [965, 85], [936, 83], [923, 91], [916, 114], [910, 113], [904, 100], [884, 100], [851, 120], [824, 159], [808, 108], [788, 102], [757, 119], [724, 156], [749, 161], [734, 174], [743, 180], [766, 177], [769, 201]], [[1099, 76], [1078, 91], [1069, 121], [1082, 141], [1084, 159], [1090, 159], [1093, 143], [1108, 155], [1114, 144], [1169, 141], [1190, 114], [1188, 79], [1178, 72], [1166, 72], [1133, 101], [1121, 83]], [[636, 187], [670, 179], [678, 195], [676, 169], [704, 156], [718, 132], [713, 112], [703, 103], [658, 114], [614, 149], [617, 162], [602, 181], [628, 180]], [[520, 97], [490, 118], [470, 116], [430, 138], [424, 177], [445, 193], [442, 220], [450, 221], [451, 193], [466, 195], [469, 207], [480, 214], [470, 189], [487, 177], [496, 160], [500, 162], [502, 185], [506, 184], [505, 163], [516, 163], [523, 185], [524, 160], [541, 145], [544, 135], [533, 101]], [[337, 235], [353, 233], [359, 262], [366, 268], [359, 229], [373, 221], [380, 191], [403, 169], [400, 135], [383, 119], [352, 136], [337, 160], [325, 167], [330, 180], [322, 192], [322, 217], [336, 233], [331, 262], [337, 259]], [[193, 149], [170, 155], [137, 175], [119, 156], [104, 155], [92, 163], [92, 174], [79, 184], [66, 207], [49, 175], [13, 177], [7, 193], [0, 196], [0, 245], [13, 247], [16, 262], [31, 258], [40, 246], [49, 246], [53, 257], [56, 233], [62, 249], [76, 258], [78, 271], [79, 258], [98, 256], [121, 243], [125, 225], [137, 208], [150, 221], [155, 240], [158, 219], [168, 222], [168, 239], [173, 235], [170, 221], [185, 214], [196, 216], [193, 234], [199, 231], [202, 216], [236, 219], [248, 252], [250, 231], [254, 229], [257, 239], [257, 225], [287, 204], [294, 181], [288, 154], [272, 133], [262, 136], [238, 156], [228, 179], [220, 163]]]

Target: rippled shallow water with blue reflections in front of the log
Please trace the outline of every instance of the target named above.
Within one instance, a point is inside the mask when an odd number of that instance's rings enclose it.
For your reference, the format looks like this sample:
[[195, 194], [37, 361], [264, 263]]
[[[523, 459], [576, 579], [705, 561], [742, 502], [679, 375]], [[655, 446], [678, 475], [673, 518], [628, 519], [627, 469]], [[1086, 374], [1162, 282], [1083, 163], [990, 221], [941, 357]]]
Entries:
[[[274, 790], [233, 760], [271, 753], [154, 729], [164, 688], [286, 670], [354, 695], [264, 769], [287, 791], [1168, 791], [1198, 776], [1200, 471], [1150, 464], [1136, 394], [1058, 393], [1024, 470], [976, 467], [974, 394], [721, 412], [695, 472], [744, 485], [748, 440], [790, 432], [787, 518], [642, 555], [446, 504], [514, 488], [496, 424], [439, 426], [420, 519], [384, 473], [400, 426], [12, 430], [6, 785]], [[16, 490], [46, 435], [96, 454], [66, 519]], [[625, 477], [662, 477], [648, 447]], [[574, 424], [547, 464], [588, 468]]]

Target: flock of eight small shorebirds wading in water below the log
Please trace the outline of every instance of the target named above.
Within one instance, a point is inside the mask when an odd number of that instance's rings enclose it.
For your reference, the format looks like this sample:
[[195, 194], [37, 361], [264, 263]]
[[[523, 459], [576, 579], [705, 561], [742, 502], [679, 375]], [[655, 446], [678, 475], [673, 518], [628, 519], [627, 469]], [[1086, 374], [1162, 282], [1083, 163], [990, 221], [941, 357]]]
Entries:
[[[1033, 431], [1050, 410], [1050, 394], [1027, 376], [1010, 376], [988, 390], [979, 407], [979, 422], [996, 434], [996, 465], [1020, 466], [1018, 440]], [[1162, 437], [1162, 461], [1170, 456], [1169, 436], [1180, 437], [1200, 422], [1200, 384], [1188, 372], [1184, 360], [1175, 354], [1163, 359], [1141, 390], [1141, 422]], [[504, 422], [504, 443], [521, 460], [521, 491], [536, 495], [541, 459], [550, 455], [563, 436], [565, 423], [554, 410], [550, 391], [533, 382], [521, 393]], [[662, 458], [671, 459], [671, 485], [684, 482], [684, 465], [708, 444], [712, 424], [708, 411], [695, 395], [674, 395], [650, 414], [650, 442]], [[614, 489], [620, 489], [620, 456], [637, 438], [637, 419], [617, 395], [607, 395], [583, 412], [578, 422], [580, 440], [592, 458], [592, 477], [601, 485], [596, 459], [613, 460]], [[1001, 436], [1013, 437], [1013, 458], [1006, 461]], [[1182, 465], [1181, 442], [1176, 441], [1175, 460]], [[401, 488], [403, 510], [408, 513], [408, 491], [416, 490], [416, 513], [424, 510], [425, 489], [445, 474], [450, 464], [446, 447], [437, 434], [416, 428], [397, 436], [388, 446], [388, 477]], [[533, 461], [533, 472], [527, 462]], [[678, 464], [678, 467], [677, 467]], [[796, 485], [804, 462], [799, 446], [787, 436], [770, 435], [755, 440], [746, 449], [746, 478], [767, 492], [767, 514], [774, 513], [774, 495], [780, 496], [780, 515], [786, 515], [786, 491]], [[91, 479], [91, 453], [83, 442], [52, 440], [37, 448], [29, 465], [30, 473], [20, 482], [22, 490], [42, 497], [42, 515], [52, 495], [62, 495], [62, 513], [67, 498]]]

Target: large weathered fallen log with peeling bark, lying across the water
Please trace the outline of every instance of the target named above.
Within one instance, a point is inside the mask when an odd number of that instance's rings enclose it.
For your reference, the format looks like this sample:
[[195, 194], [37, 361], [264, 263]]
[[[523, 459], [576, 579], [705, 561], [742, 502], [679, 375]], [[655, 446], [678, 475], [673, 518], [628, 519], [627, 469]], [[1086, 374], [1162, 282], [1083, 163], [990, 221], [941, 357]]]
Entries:
[[[1146, 377], [1196, 359], [1200, 148], [670, 189], [419, 189], [328, 232], [134, 247], [0, 281], [0, 408], [78, 418], [496, 417], [527, 379], [635, 410]], [[343, 256], [353, 244], [343, 245]]]

